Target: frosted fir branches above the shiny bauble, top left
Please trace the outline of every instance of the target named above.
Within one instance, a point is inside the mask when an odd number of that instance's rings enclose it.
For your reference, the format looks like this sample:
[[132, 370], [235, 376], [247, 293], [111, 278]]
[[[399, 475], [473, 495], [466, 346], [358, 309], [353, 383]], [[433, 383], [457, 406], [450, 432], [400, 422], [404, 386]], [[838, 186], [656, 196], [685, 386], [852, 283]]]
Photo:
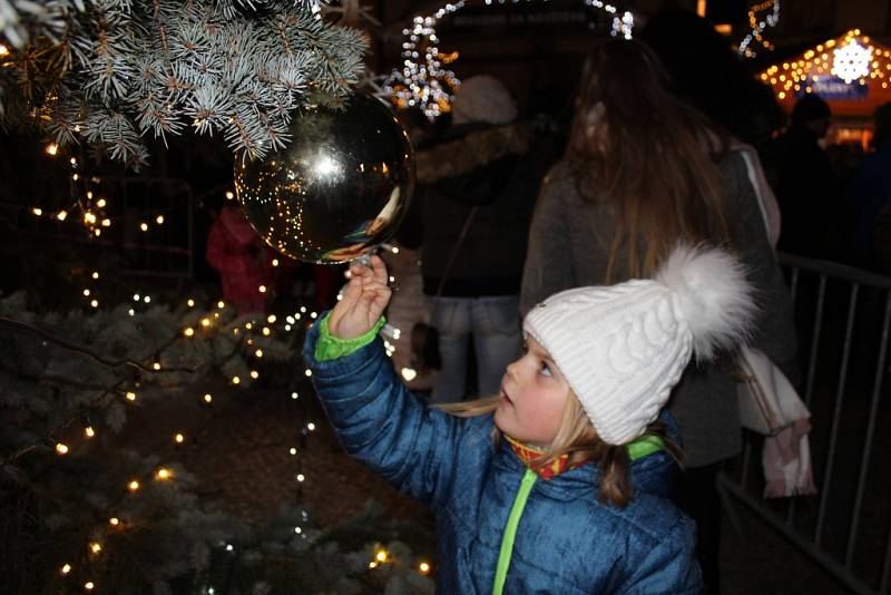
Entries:
[[146, 135], [187, 128], [242, 158], [284, 147], [295, 109], [359, 80], [368, 45], [306, 0], [0, 0], [0, 124], [133, 168]]

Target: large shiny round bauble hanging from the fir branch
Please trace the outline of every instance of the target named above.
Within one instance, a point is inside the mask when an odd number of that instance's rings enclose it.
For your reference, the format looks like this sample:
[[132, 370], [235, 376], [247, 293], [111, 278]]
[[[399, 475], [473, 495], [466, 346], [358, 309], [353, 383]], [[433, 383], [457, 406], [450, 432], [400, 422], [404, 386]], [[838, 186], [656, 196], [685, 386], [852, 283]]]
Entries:
[[305, 109], [288, 131], [287, 148], [235, 166], [235, 192], [261, 237], [316, 263], [389, 240], [414, 191], [414, 156], [390, 108], [355, 92], [343, 109]]

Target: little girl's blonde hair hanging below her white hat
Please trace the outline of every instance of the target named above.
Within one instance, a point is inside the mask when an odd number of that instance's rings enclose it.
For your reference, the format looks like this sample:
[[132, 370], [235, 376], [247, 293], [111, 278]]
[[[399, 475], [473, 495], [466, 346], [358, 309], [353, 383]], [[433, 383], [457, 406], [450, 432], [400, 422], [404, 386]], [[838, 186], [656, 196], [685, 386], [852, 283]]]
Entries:
[[[458, 403], [435, 404], [437, 409], [459, 418], [474, 418], [493, 413], [498, 408], [500, 397], [484, 397], [472, 401]], [[677, 443], [667, 435], [665, 425], [660, 421], [650, 423], [644, 436], [655, 436], [663, 440], [666, 451], [681, 462], [683, 453]], [[501, 438], [501, 430], [492, 427], [492, 441], [496, 443]], [[628, 457], [626, 445], [608, 445], [600, 440], [594, 429], [591, 420], [581, 407], [575, 392], [569, 391], [569, 398], [564, 407], [560, 427], [557, 436], [545, 449], [540, 457], [530, 461], [533, 470], [547, 467], [564, 455], [569, 457], [569, 464], [593, 460], [598, 464], [601, 472], [599, 497], [601, 503], [614, 504], [619, 507], [627, 505], [634, 498], [631, 488], [631, 461]]]

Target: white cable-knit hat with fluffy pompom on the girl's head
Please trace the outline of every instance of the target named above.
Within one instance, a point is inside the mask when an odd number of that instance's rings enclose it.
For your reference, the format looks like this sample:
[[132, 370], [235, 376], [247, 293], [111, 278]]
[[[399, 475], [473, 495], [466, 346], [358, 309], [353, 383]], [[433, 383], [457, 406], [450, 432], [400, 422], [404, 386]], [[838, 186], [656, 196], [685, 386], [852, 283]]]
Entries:
[[705, 361], [738, 347], [755, 310], [738, 260], [682, 244], [655, 279], [557, 293], [523, 330], [550, 353], [600, 439], [625, 445], [656, 420], [692, 352]]

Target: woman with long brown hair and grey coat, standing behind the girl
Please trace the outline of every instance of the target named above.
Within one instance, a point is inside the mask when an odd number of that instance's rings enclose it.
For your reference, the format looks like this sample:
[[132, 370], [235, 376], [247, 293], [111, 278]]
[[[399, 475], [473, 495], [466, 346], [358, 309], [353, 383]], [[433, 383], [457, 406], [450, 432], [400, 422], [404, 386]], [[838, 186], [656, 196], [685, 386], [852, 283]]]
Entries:
[[[565, 157], [539, 194], [520, 298], [652, 274], [679, 242], [723, 245], [750, 271], [760, 314], [751, 344], [781, 368], [795, 355], [791, 300], [746, 165], [728, 139], [668, 90], [636, 41], [597, 42], [586, 59]], [[686, 455], [678, 503], [698, 525], [697, 555], [717, 592], [717, 471], [741, 450], [732, 360], [691, 364], [669, 401]]]

